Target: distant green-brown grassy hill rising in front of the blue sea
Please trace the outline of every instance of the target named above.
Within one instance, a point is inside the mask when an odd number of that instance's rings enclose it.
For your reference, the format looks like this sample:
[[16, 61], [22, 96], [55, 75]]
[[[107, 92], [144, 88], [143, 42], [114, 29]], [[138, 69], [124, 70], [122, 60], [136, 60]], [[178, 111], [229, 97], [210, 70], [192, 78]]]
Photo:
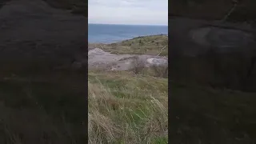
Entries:
[[95, 47], [111, 52], [113, 54], [159, 54], [161, 56], [167, 56], [168, 36], [163, 34], [150, 35], [111, 44], [89, 44], [89, 48]]

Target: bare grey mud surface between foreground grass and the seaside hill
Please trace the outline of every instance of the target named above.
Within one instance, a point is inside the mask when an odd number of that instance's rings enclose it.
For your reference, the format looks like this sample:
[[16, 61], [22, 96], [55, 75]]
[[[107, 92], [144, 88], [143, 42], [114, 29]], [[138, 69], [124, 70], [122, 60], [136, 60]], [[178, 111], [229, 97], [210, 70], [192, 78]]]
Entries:
[[143, 54], [110, 54], [99, 48], [88, 51], [89, 70], [130, 70], [134, 66], [168, 66], [168, 59]]

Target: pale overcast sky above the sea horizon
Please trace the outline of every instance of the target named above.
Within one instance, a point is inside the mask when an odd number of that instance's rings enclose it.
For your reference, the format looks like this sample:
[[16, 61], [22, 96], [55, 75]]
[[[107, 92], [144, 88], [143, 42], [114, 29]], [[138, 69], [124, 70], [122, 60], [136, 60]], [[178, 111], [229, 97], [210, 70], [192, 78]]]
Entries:
[[88, 22], [168, 25], [168, 0], [89, 0]]

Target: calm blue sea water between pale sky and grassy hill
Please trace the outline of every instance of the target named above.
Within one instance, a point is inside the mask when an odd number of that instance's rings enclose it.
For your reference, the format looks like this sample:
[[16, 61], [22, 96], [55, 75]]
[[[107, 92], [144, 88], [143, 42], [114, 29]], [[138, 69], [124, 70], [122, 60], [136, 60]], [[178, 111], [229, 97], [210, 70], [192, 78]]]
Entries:
[[168, 34], [168, 26], [89, 24], [88, 40], [111, 43], [152, 34]]

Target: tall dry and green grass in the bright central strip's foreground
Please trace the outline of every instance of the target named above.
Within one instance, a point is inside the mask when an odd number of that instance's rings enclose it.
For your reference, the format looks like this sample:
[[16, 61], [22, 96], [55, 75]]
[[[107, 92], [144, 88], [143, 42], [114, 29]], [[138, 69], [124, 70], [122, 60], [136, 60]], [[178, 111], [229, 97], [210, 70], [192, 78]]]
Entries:
[[88, 84], [89, 143], [167, 143], [167, 79], [90, 72]]

